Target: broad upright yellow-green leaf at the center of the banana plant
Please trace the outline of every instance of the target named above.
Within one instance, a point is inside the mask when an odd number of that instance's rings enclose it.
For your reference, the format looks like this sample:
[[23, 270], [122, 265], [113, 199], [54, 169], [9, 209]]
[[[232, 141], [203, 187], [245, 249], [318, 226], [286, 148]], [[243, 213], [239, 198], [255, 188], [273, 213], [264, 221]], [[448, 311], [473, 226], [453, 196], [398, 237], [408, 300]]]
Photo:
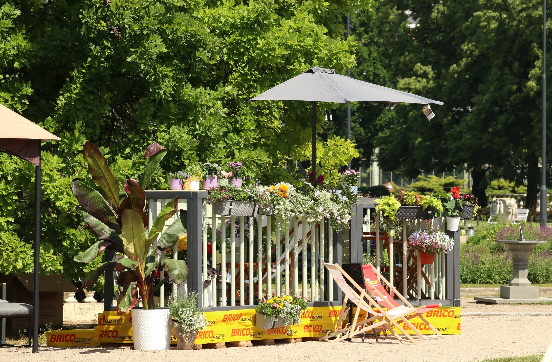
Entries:
[[146, 252], [146, 230], [140, 212], [125, 209], [121, 221], [123, 222], [121, 238], [125, 254], [129, 259], [142, 263]]

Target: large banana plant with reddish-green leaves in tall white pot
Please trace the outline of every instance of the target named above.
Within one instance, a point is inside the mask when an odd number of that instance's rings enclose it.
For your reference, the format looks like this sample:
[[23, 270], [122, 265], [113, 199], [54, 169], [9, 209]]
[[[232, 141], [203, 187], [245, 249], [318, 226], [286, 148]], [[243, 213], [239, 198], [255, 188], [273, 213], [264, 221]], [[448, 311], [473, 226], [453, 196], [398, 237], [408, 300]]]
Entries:
[[[166, 221], [178, 210], [178, 198], [169, 201], [148, 227], [144, 188], [150, 185], [151, 177], [166, 152], [161, 145], [151, 144], [146, 150], [148, 162], [140, 181], [126, 180], [122, 188], [124, 192], [120, 195], [119, 181], [109, 169], [108, 161], [93, 144], [87, 142], [83, 148], [84, 159], [92, 180], [102, 188], [103, 195], [80, 179], [71, 182], [71, 189], [84, 209], [84, 221], [99, 239], [73, 260], [90, 263], [104, 249], [112, 249], [116, 253], [115, 261], [100, 263], [92, 269], [84, 278], [82, 287], [94, 285], [105, 270], [119, 272], [117, 284], [123, 289], [116, 310], [118, 314], [132, 311], [132, 335], [137, 350], [169, 349], [171, 343], [169, 310], [155, 307], [155, 272], [164, 270], [168, 274], [158, 282], [157, 287], [168, 278], [181, 284], [188, 276], [183, 260], [160, 257], [163, 250], [172, 248], [185, 231], [185, 214], [181, 213], [163, 232]], [[142, 309], [134, 308], [139, 296]]]

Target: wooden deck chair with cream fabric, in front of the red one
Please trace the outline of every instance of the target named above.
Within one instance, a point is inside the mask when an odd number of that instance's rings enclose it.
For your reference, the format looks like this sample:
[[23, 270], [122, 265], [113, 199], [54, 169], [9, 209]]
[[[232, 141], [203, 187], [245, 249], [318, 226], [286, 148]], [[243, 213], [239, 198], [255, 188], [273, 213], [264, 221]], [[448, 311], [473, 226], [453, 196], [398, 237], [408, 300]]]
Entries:
[[[401, 306], [391, 309], [390, 311], [385, 311], [384, 308], [381, 308], [378, 303], [370, 297], [366, 290], [360, 287], [360, 285], [358, 285], [343, 269], [341, 269], [339, 265], [327, 264], [323, 261], [322, 265], [326, 267], [328, 272], [330, 272], [333, 281], [335, 281], [339, 288], [341, 288], [345, 297], [343, 298], [343, 305], [336, 323], [335, 332], [328, 332], [325, 337], [320, 338], [321, 341], [325, 340], [327, 342], [339, 342], [347, 338], [353, 338], [357, 334], [363, 334], [366, 330], [375, 329], [389, 330], [389, 332], [391, 332], [391, 334], [401, 342], [412, 342], [413, 344], [418, 344], [411, 337], [411, 335], [406, 333], [400, 324], [396, 322], [397, 319], [405, 317], [406, 314], [411, 313], [411, 308]], [[353, 287], [349, 286], [346, 279], [353, 285]], [[357, 293], [353, 288], [360, 291], [360, 293]], [[347, 326], [343, 328], [343, 320], [348, 313], [348, 308], [346, 307], [348, 300], [351, 300], [352, 303], [357, 306], [357, 310], [354, 314], [353, 323], [347, 323]], [[366, 318], [362, 321], [359, 321], [360, 311], [364, 311], [366, 313]], [[404, 335], [406, 339], [402, 338], [392, 327], [397, 328], [397, 330], [399, 330], [399, 332]]]

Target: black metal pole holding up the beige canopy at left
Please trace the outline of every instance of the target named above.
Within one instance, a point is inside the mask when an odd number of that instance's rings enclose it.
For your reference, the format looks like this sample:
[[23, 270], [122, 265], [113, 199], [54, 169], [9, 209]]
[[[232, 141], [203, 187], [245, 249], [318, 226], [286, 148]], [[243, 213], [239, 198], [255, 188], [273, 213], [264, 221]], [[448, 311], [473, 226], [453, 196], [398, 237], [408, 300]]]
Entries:
[[35, 254], [33, 288], [33, 353], [38, 353], [38, 297], [40, 294], [40, 177], [41, 157], [38, 140], [39, 164], [35, 166]]

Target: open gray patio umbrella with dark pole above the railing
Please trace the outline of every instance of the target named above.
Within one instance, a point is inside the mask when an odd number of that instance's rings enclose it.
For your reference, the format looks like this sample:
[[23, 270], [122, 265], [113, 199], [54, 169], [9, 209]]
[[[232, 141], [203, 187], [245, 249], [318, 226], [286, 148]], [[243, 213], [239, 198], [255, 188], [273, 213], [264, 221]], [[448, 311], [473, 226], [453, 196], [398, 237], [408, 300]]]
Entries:
[[312, 102], [312, 170], [316, 174], [316, 102], [375, 102], [391, 103], [435, 103], [433, 99], [424, 98], [378, 86], [358, 79], [336, 74], [333, 69], [310, 67], [309, 70], [270, 88], [252, 101], [306, 101]]

